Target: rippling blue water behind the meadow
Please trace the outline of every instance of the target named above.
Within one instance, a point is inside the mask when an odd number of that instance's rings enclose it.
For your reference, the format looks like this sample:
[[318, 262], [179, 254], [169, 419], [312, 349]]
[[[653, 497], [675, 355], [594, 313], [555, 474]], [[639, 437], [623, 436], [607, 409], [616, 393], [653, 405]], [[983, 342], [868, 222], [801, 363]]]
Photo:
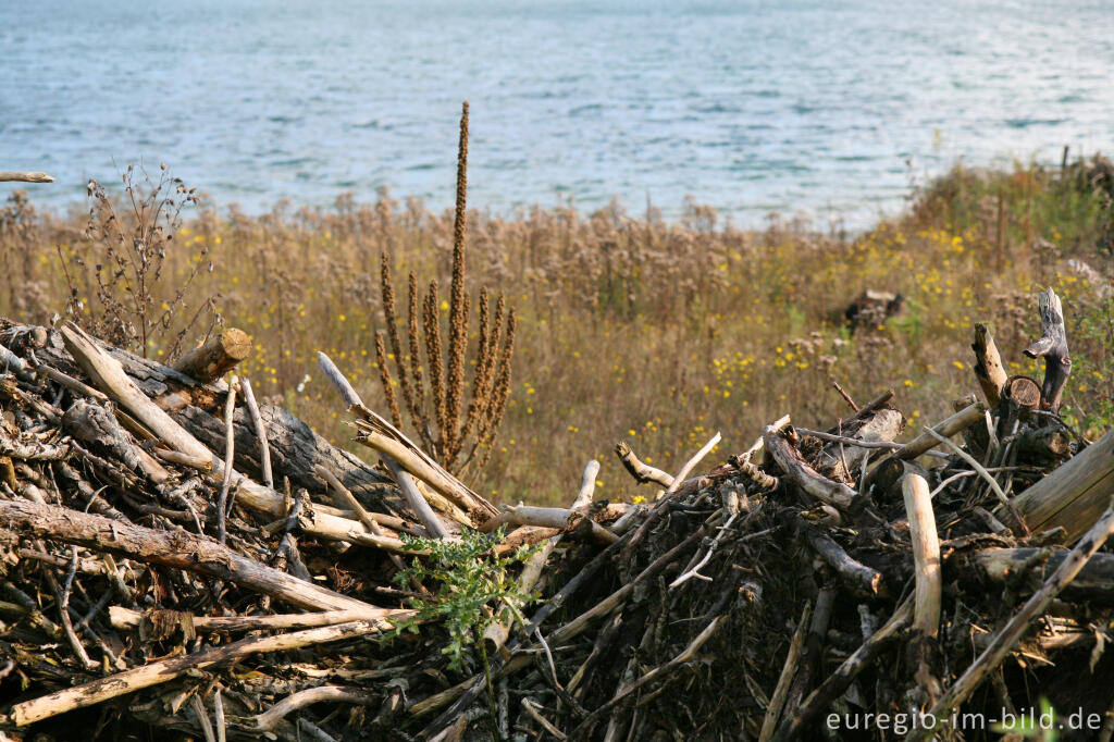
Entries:
[[0, 169], [41, 203], [165, 162], [250, 211], [441, 207], [466, 98], [472, 205], [861, 225], [958, 158], [1114, 149], [1114, 3], [0, 0]]

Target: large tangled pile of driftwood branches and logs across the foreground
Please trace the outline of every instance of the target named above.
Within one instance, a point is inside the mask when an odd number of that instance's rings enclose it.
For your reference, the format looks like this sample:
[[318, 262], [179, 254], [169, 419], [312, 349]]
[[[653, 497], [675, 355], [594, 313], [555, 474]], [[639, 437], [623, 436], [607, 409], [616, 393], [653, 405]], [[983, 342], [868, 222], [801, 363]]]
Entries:
[[[221, 380], [237, 331], [172, 369], [3, 323], [0, 739], [981, 740], [1051, 703], [1108, 740], [1114, 432], [1061, 420], [1040, 310], [1043, 383], [976, 326], [980, 398], [908, 442], [891, 393], [847, 398], [704, 475], [719, 435], [675, 476], [619, 443], [644, 505], [594, 501], [593, 461], [569, 508], [502, 509], [328, 358], [381, 467]], [[426, 558], [403, 537], [462, 529], [536, 545], [514, 579], [543, 596], [475, 674], [437, 623], [392, 636], [437, 589], [392, 583]]]

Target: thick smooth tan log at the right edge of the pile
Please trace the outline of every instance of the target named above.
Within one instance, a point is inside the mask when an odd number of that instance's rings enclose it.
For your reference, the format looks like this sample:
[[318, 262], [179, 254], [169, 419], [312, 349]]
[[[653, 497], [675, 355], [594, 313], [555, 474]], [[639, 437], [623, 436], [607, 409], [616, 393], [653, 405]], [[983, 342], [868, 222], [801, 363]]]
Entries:
[[1114, 429], [1013, 499], [1033, 533], [1062, 526], [1076, 538], [1114, 496]]

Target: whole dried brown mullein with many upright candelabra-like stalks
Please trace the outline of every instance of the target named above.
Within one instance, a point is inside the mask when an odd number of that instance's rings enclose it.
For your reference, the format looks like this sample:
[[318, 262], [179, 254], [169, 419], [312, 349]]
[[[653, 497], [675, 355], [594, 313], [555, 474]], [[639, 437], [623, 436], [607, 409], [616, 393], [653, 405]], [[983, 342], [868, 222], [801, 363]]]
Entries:
[[[380, 264], [383, 332], [375, 335], [380, 383], [391, 417], [402, 426], [402, 410], [394, 391], [395, 377], [402, 401], [422, 446], [451, 471], [482, 469], [502, 422], [510, 396], [511, 358], [515, 350], [516, 318], [499, 296], [495, 309], [486, 287], [479, 294], [479, 333], [476, 342], [471, 384], [467, 383], [469, 316], [471, 301], [465, 286], [468, 194], [468, 104], [460, 118], [457, 156], [457, 203], [452, 230], [452, 283], [449, 295], [448, 354], [442, 343], [441, 300], [437, 280], [430, 281], [419, 314], [418, 276], [410, 273], [407, 302], [407, 353], [403, 353], [400, 318], [395, 310], [394, 284], [387, 252]], [[422, 343], [424, 340], [424, 343]], [[390, 343], [391, 353], [387, 348]], [[426, 364], [421, 363], [421, 346]], [[393, 358], [393, 373], [390, 368]], [[427, 394], [428, 390], [428, 394]], [[466, 404], [467, 402], [467, 404]], [[466, 411], [467, 410], [467, 411]]]

